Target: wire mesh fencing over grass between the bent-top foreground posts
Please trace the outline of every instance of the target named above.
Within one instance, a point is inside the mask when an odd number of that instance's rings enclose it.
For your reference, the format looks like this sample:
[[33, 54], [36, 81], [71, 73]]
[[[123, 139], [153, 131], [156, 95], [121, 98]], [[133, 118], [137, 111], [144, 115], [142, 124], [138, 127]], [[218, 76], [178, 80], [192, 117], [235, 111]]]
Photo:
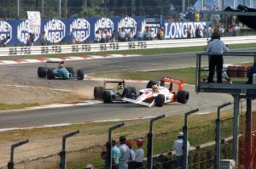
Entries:
[[[245, 114], [241, 113], [241, 128], [240, 133], [245, 133]], [[170, 121], [171, 120], [171, 121]], [[148, 120], [140, 121], [126, 121], [125, 127], [118, 129], [113, 133], [113, 138], [118, 139], [120, 135], [126, 135], [131, 143], [135, 145], [136, 138], [143, 138], [145, 155], [147, 155], [147, 133], [137, 132], [134, 135], [134, 131], [138, 128], [143, 128]], [[154, 143], [153, 143], [153, 168], [173, 168], [175, 165], [175, 157], [171, 155], [170, 149], [172, 144], [177, 138], [177, 133], [181, 131], [181, 127], [173, 128], [173, 126], [166, 123], [165, 131], [159, 130], [158, 127], [162, 125], [162, 122], [156, 122], [154, 127]], [[168, 119], [170, 124], [171, 118]], [[67, 168], [83, 168], [85, 164], [92, 163], [96, 168], [105, 168], [105, 160], [102, 158], [102, 152], [106, 151], [106, 142], [108, 141], [108, 128], [112, 127], [114, 122], [105, 124], [104, 127], [99, 127], [95, 130], [84, 129], [81, 132], [67, 139]], [[253, 119], [253, 129], [256, 129], [256, 119]], [[221, 138], [229, 138], [232, 136], [233, 117], [232, 113], [226, 115], [221, 121]], [[65, 131], [64, 131], [65, 132]], [[22, 145], [15, 150], [15, 168], [28, 169], [28, 168], [60, 168], [61, 157], [61, 136], [41, 138], [29, 140], [28, 144]], [[215, 122], [209, 122], [204, 124], [203, 121], [189, 127], [189, 143], [195, 148], [189, 152], [189, 168], [213, 168], [214, 167], [214, 140], [215, 140]], [[209, 142], [212, 142], [209, 143]], [[205, 145], [204, 145], [205, 144]], [[203, 146], [204, 145], [204, 146]], [[6, 147], [7, 144], [1, 144], [1, 147]], [[201, 147], [201, 148], [200, 148]], [[241, 144], [241, 147], [243, 145]], [[197, 148], [197, 149], [196, 149]], [[200, 149], [199, 149], [200, 148]], [[136, 149], [133, 146], [133, 149]], [[241, 149], [242, 150], [242, 149]], [[2, 154], [3, 155], [3, 154]], [[241, 152], [242, 157], [242, 152]], [[232, 157], [232, 144], [229, 141], [221, 144], [221, 159], [231, 159]], [[1, 156], [0, 168], [7, 168], [3, 162], [3, 159], [8, 160], [8, 154]], [[146, 166], [145, 161], [144, 166]]]

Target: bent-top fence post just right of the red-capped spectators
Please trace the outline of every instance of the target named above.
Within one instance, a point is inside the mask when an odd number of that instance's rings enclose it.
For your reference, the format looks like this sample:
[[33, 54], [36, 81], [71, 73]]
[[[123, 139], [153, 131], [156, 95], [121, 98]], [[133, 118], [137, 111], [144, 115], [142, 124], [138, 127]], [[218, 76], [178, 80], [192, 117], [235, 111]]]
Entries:
[[154, 117], [153, 119], [150, 119], [150, 129], [148, 132], [148, 155], [147, 155], [147, 161], [148, 161], [148, 169], [152, 169], [153, 167], [153, 122], [160, 120], [161, 118], [164, 118], [166, 115], [160, 115], [157, 117]]

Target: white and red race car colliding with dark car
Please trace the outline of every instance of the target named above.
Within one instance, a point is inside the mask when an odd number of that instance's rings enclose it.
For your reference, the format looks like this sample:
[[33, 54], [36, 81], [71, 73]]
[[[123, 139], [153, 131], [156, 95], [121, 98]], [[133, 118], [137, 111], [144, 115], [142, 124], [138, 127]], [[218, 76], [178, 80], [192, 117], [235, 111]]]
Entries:
[[[169, 83], [169, 88], [166, 85]], [[172, 90], [173, 84], [177, 85], [177, 93]], [[123, 101], [142, 104], [148, 107], [154, 105], [162, 107], [164, 104], [178, 102], [186, 104], [189, 101], [189, 92], [183, 90], [183, 81], [162, 77], [160, 82], [149, 81], [147, 88], [141, 89], [137, 99], [123, 98]]]

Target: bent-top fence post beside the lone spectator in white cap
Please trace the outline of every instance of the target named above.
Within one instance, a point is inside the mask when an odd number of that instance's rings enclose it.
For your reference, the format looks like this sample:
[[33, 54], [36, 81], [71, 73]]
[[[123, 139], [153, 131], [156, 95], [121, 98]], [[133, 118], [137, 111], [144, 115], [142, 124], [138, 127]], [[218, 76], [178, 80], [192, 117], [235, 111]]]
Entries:
[[199, 111], [199, 109], [191, 110], [185, 113], [183, 127], [183, 169], [188, 169], [188, 116]]

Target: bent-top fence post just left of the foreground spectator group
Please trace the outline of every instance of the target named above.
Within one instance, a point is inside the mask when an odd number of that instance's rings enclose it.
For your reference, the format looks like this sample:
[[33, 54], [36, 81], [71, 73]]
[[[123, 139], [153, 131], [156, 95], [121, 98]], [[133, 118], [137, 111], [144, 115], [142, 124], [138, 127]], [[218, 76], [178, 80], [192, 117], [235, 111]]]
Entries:
[[115, 125], [113, 127], [109, 128], [108, 131], [108, 144], [107, 144], [107, 169], [111, 169], [112, 168], [112, 153], [111, 153], [111, 149], [112, 149], [112, 131], [119, 128], [119, 127], [123, 127], [125, 125], [125, 123], [120, 123], [118, 125]]

